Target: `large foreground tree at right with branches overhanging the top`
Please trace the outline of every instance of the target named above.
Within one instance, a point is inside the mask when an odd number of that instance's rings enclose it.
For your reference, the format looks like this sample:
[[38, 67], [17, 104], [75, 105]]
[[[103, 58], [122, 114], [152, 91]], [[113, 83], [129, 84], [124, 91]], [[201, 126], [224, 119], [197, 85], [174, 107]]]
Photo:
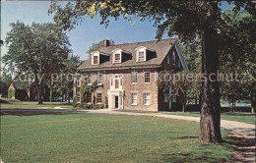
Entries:
[[[169, 36], [178, 34], [182, 40], [194, 39], [197, 35], [202, 43], [202, 105], [200, 119], [200, 139], [207, 142], [221, 142], [220, 84], [216, 77], [210, 80], [211, 74], [219, 70], [218, 32], [222, 27], [222, 11], [218, 1], [168, 1], [168, 0], [127, 0], [127, 1], [76, 1], [68, 2], [62, 8], [53, 1], [49, 13], [55, 12], [56, 26], [71, 29], [78, 19], [85, 15], [98, 14], [100, 24], [106, 27], [109, 17], [117, 20], [129, 16], [149, 19], [155, 22], [158, 39], [164, 32]], [[255, 15], [255, 4], [252, 2], [233, 2], [238, 10], [248, 10]]]

